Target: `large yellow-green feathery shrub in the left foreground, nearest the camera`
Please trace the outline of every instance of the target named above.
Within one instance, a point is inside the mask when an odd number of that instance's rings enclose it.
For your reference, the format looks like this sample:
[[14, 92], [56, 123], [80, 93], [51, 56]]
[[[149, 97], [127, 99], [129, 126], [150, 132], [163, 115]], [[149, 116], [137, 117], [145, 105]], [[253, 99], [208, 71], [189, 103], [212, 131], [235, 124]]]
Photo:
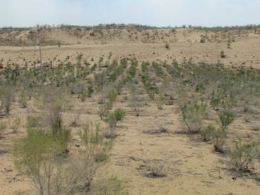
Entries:
[[49, 132], [28, 130], [28, 135], [14, 146], [12, 156], [20, 172], [31, 178], [39, 194], [51, 194], [53, 159], [61, 154], [59, 143]]

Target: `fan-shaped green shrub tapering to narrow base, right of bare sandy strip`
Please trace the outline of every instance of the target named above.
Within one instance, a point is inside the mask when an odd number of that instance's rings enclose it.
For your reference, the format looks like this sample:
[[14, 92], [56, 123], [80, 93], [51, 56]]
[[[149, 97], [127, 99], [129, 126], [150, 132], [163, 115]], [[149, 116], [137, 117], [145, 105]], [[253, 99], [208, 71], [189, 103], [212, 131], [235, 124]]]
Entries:
[[192, 101], [180, 106], [183, 122], [185, 123], [188, 133], [198, 133], [202, 127], [202, 120], [207, 113], [207, 107], [203, 103], [198, 104]]

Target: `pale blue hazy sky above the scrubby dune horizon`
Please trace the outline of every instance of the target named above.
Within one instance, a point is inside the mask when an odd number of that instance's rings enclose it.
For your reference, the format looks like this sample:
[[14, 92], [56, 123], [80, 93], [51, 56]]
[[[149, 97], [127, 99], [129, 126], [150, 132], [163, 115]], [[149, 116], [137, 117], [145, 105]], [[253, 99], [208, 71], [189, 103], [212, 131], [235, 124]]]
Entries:
[[260, 0], [0, 0], [0, 27], [260, 24]]

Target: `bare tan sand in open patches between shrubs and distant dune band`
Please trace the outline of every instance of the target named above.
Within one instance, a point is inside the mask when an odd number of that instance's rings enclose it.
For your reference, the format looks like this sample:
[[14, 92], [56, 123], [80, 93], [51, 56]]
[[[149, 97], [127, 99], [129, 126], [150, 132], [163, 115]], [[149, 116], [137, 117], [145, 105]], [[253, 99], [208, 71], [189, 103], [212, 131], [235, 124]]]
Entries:
[[[192, 34], [192, 32], [190, 32]], [[202, 32], [194, 32], [194, 39]], [[190, 35], [192, 37], [192, 35]], [[179, 40], [182, 40], [179, 38]], [[252, 37], [237, 39], [231, 43], [231, 49], [227, 48], [226, 41], [217, 43], [199, 43], [199, 41], [187, 41], [183, 39], [177, 43], [170, 43], [170, 50], [165, 43], [116, 43], [46, 46], [42, 48], [43, 62], [52, 61], [59, 63], [70, 56], [70, 61], [76, 61], [79, 53], [83, 54], [83, 60], [90, 63], [99, 61], [103, 57], [105, 61], [121, 59], [123, 57], [135, 57], [139, 61], [183, 61], [192, 58], [194, 61], [206, 61], [225, 65], [248, 65], [260, 68], [260, 37], [259, 34]], [[75, 40], [74, 40], [75, 41]], [[224, 50], [227, 57], [221, 59], [220, 52]], [[112, 57], [109, 59], [110, 52]], [[56, 58], [54, 61], [54, 57]], [[92, 61], [94, 59], [94, 61]], [[3, 65], [39, 60], [37, 47], [11, 47], [0, 46], [0, 60]], [[101, 167], [96, 178], [103, 176], [118, 176], [124, 183], [122, 194], [148, 195], [148, 194], [259, 194], [260, 185], [252, 178], [236, 178], [228, 172], [225, 158], [213, 151], [210, 143], [197, 141], [196, 136], [176, 134], [181, 130], [181, 116], [177, 105], [164, 105], [163, 110], [158, 110], [153, 101], [143, 107], [141, 116], [134, 116], [128, 102], [123, 101], [123, 92], [117, 99], [115, 107], [123, 107], [127, 110], [126, 119], [119, 123], [118, 134], [112, 148], [110, 161]], [[72, 100], [75, 110], [81, 110], [81, 124], [86, 121], [99, 121], [99, 105], [97, 96], [90, 101], [81, 103], [74, 97]], [[18, 105], [12, 105], [10, 119], [15, 116], [21, 118], [21, 127], [16, 134], [8, 127], [0, 139], [0, 194], [32, 194], [32, 185], [28, 178], [20, 175], [12, 164], [9, 155], [12, 143], [25, 134], [26, 116], [33, 114], [33, 106], [21, 109]], [[70, 112], [65, 113], [66, 123], [70, 121]], [[66, 118], [67, 117], [67, 118]], [[146, 134], [144, 131], [157, 127], [159, 123], [166, 121], [170, 134]], [[104, 125], [104, 124], [103, 124]], [[241, 121], [235, 121], [230, 127], [230, 134], [254, 134], [249, 125]], [[7, 153], [6, 153], [7, 152]], [[166, 177], [149, 178], [146, 172], [152, 165], [163, 165], [166, 169]], [[259, 162], [257, 163], [259, 169]]]

